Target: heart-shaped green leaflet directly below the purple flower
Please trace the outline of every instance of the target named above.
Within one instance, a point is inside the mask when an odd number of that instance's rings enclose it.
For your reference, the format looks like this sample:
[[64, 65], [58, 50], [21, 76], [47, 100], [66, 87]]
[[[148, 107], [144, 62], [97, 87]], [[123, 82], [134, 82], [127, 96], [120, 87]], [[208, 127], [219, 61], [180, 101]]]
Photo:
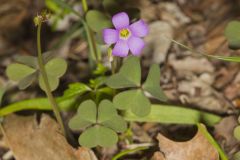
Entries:
[[110, 76], [106, 84], [111, 88], [138, 87], [141, 83], [141, 66], [138, 57], [131, 56], [123, 63], [119, 73]]

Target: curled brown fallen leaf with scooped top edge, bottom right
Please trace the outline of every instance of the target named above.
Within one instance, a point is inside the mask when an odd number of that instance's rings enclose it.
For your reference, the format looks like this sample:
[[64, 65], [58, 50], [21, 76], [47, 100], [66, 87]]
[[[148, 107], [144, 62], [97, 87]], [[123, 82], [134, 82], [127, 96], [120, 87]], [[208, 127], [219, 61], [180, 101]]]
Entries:
[[157, 139], [165, 159], [156, 153], [154, 160], [219, 160], [217, 150], [200, 131], [186, 142], [175, 142], [162, 134], [158, 134]]

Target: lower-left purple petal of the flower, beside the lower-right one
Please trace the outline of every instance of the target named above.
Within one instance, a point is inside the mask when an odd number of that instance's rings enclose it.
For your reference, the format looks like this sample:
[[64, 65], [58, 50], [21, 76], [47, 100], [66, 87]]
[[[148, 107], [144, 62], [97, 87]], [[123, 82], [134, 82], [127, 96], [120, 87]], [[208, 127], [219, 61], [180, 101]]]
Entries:
[[114, 56], [126, 57], [128, 55], [128, 44], [127, 41], [119, 40], [116, 45], [113, 47], [112, 54]]

